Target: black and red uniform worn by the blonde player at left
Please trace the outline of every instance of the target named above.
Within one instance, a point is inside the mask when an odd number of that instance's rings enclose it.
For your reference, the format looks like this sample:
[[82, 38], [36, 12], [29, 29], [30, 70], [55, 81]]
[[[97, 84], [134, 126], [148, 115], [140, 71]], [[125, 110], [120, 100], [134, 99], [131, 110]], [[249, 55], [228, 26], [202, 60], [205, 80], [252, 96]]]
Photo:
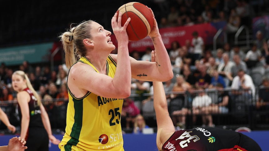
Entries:
[[[23, 91], [29, 93], [31, 100], [29, 101], [30, 121], [26, 134], [27, 151], [48, 151], [49, 137], [42, 123], [40, 107], [37, 105], [37, 99], [33, 92], [26, 88]], [[21, 108], [18, 107], [20, 118], [22, 119]]]

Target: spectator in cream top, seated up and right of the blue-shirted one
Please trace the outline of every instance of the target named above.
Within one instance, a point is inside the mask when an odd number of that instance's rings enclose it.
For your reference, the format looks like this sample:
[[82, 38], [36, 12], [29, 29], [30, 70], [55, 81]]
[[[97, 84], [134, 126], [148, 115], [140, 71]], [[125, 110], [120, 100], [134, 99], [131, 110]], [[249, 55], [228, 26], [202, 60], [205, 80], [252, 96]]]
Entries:
[[232, 81], [231, 68], [233, 66], [233, 62], [229, 60], [229, 55], [226, 53], [224, 53], [222, 57], [224, 62], [218, 65], [218, 73], [223, 76], [225, 84], [228, 86]]

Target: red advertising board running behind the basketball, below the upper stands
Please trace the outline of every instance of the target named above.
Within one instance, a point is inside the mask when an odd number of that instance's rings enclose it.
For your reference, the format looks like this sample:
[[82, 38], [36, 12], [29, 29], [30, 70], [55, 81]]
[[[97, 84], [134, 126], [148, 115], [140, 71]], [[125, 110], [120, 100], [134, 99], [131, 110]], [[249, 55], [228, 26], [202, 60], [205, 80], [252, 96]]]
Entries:
[[[159, 29], [162, 36], [164, 45], [167, 49], [170, 49], [172, 41], [178, 41], [181, 46], [185, 45], [186, 40], [192, 40], [193, 31], [197, 31], [199, 36], [201, 36], [206, 45], [213, 44], [213, 37], [217, 33], [216, 27], [211, 23], [197, 24], [193, 26], [179, 26], [179, 27], [169, 27]], [[117, 40], [115, 35], [111, 35], [111, 41], [117, 48]], [[139, 41], [129, 42], [129, 52], [133, 50], [144, 51], [146, 47], [151, 47], [153, 49], [153, 43], [149, 36]]]

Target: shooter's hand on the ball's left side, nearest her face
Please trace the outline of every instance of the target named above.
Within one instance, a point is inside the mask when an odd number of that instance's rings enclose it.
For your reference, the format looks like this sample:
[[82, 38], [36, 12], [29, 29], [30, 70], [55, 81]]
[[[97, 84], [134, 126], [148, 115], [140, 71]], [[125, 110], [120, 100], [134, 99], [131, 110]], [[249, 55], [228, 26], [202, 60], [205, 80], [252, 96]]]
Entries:
[[131, 21], [131, 18], [129, 17], [127, 19], [127, 21], [125, 22], [125, 24], [123, 26], [121, 26], [121, 16], [122, 16], [122, 13], [120, 12], [119, 17], [118, 17], [118, 21], [117, 21], [117, 13], [115, 13], [111, 19], [111, 26], [113, 29], [113, 33], [115, 34], [116, 39], [118, 40], [118, 43], [125, 42], [128, 44], [129, 37], [128, 37], [127, 32], [126, 32], [126, 28], [129, 24], [129, 22]]

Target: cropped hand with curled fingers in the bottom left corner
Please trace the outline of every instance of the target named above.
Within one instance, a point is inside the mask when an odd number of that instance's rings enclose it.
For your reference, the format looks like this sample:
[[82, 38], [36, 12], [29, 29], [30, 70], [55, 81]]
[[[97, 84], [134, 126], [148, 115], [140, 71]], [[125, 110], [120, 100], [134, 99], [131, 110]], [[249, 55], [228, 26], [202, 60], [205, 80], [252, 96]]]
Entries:
[[26, 141], [21, 137], [13, 137], [12, 139], [9, 139], [7, 149], [8, 151], [23, 151], [27, 149], [27, 146], [24, 146], [25, 144]]

